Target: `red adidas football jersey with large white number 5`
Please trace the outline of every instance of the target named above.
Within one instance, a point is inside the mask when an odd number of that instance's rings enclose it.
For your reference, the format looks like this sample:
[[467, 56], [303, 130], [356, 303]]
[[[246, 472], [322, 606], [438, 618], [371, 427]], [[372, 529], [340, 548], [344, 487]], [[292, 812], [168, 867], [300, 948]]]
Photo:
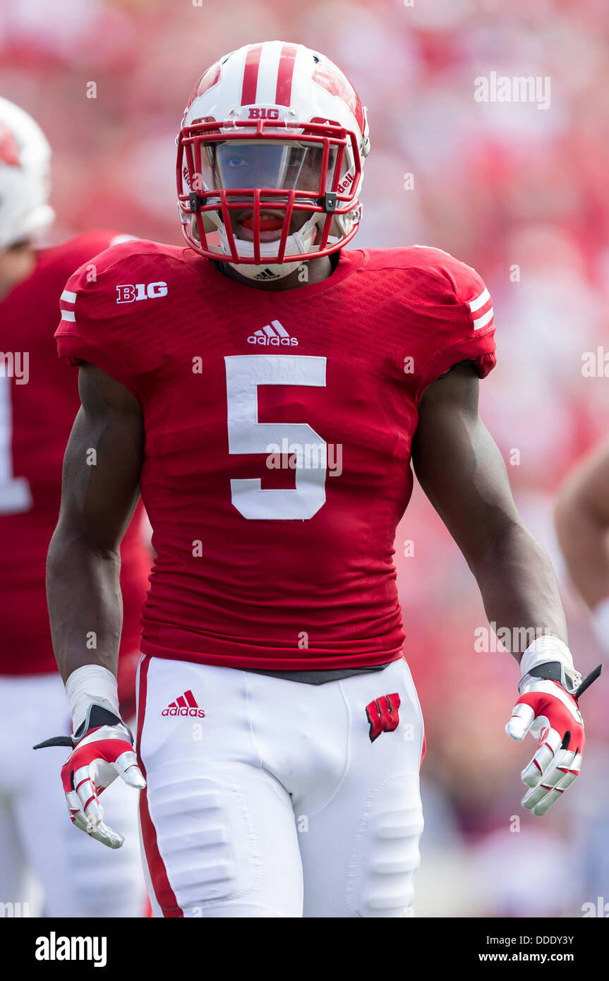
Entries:
[[478, 274], [417, 246], [342, 250], [328, 280], [283, 292], [154, 242], [96, 264], [67, 285], [57, 338], [143, 411], [141, 649], [282, 670], [399, 657], [417, 405], [455, 363], [495, 361]]

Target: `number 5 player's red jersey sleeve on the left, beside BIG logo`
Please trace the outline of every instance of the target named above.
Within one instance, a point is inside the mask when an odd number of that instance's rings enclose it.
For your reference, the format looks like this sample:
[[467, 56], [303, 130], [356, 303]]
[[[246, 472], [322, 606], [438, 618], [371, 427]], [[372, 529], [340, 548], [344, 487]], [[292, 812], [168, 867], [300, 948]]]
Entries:
[[152, 368], [147, 345], [142, 343], [141, 318], [128, 302], [134, 287], [124, 283], [121, 253], [115, 245], [80, 266], [61, 294], [61, 320], [55, 338], [60, 358], [71, 365], [96, 365], [140, 399], [139, 382]]

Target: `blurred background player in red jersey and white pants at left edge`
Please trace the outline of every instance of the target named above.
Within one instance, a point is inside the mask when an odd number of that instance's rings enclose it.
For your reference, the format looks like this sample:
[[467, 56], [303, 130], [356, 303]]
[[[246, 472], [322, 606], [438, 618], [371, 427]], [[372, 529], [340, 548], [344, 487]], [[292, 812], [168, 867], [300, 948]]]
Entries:
[[[34, 247], [33, 233], [53, 219], [46, 203], [49, 153], [33, 120], [0, 99], [0, 902], [26, 902], [29, 871], [43, 888], [47, 915], [137, 915], [144, 888], [136, 842], [125, 853], [102, 856], [67, 835], [57, 776], [49, 774], [44, 754], [31, 749], [49, 726], [65, 731], [70, 720], [53, 656], [44, 575], [79, 398], [74, 374], [57, 358], [53, 334], [66, 279], [117, 238], [90, 232], [54, 248]], [[94, 267], [86, 268], [92, 276]], [[122, 556], [119, 663], [129, 718], [150, 565], [139, 520], [127, 531]], [[65, 749], [53, 752], [65, 758]], [[135, 836], [136, 808], [127, 788], [114, 802]]]

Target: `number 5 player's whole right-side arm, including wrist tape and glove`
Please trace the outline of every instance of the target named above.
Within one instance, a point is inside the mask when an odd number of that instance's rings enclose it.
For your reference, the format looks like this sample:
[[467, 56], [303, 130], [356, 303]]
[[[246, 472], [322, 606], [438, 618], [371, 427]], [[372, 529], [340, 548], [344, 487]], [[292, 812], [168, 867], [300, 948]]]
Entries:
[[[504, 628], [501, 640], [521, 665], [520, 697], [506, 731], [519, 741], [527, 732], [538, 738], [522, 772], [529, 788], [522, 802], [543, 814], [580, 771], [584, 723], [577, 698], [584, 686], [566, 645], [556, 577], [518, 515], [501, 454], [478, 414], [478, 389], [468, 365], [426, 389], [413, 462], [476, 577], [488, 619]], [[536, 636], [543, 632], [550, 636]]]

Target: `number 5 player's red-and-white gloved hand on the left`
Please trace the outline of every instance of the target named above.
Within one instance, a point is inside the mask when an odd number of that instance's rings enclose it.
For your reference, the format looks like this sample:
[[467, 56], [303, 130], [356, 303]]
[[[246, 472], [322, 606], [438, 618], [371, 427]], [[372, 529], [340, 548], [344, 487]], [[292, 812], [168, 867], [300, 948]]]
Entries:
[[73, 824], [108, 848], [120, 849], [125, 839], [104, 823], [99, 796], [118, 776], [135, 790], [146, 786], [127, 726], [114, 712], [93, 703], [74, 736], [47, 740], [34, 749], [65, 745], [73, 747], [61, 772]]

